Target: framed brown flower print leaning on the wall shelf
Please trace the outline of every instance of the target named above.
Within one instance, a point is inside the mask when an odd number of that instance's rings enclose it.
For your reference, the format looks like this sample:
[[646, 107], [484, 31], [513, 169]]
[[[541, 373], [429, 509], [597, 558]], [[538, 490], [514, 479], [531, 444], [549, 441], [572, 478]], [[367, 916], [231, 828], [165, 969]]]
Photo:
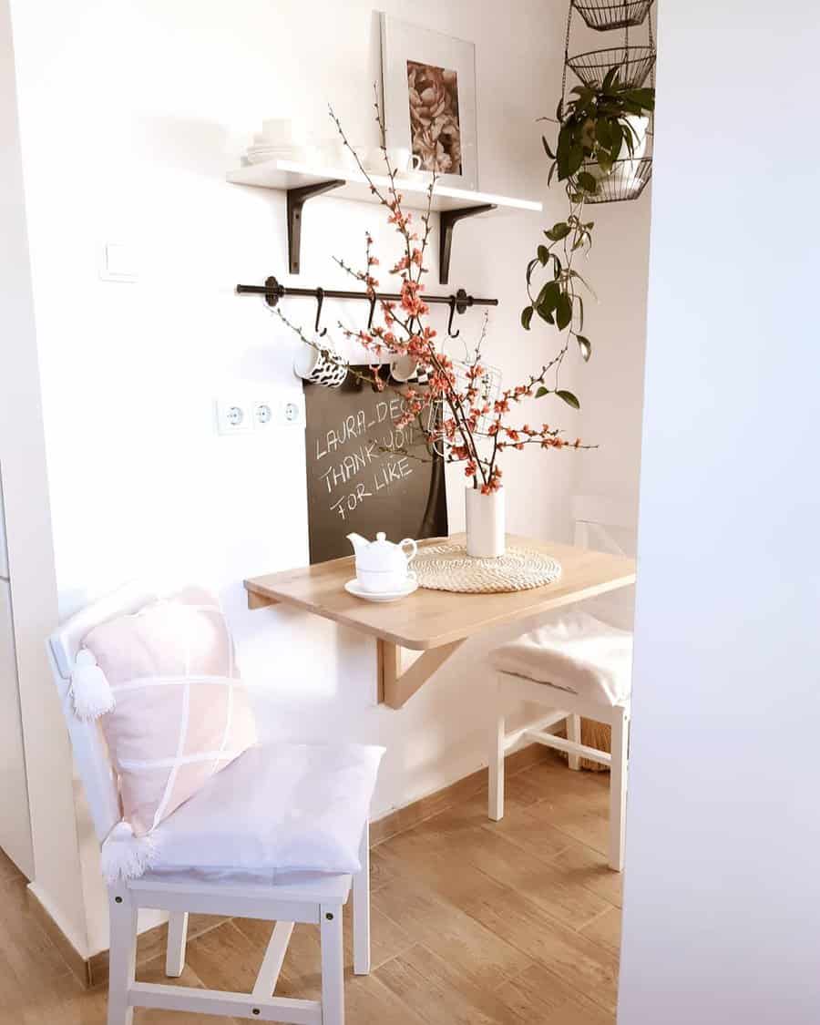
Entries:
[[478, 189], [475, 43], [383, 11], [380, 22], [386, 145], [443, 184]]

